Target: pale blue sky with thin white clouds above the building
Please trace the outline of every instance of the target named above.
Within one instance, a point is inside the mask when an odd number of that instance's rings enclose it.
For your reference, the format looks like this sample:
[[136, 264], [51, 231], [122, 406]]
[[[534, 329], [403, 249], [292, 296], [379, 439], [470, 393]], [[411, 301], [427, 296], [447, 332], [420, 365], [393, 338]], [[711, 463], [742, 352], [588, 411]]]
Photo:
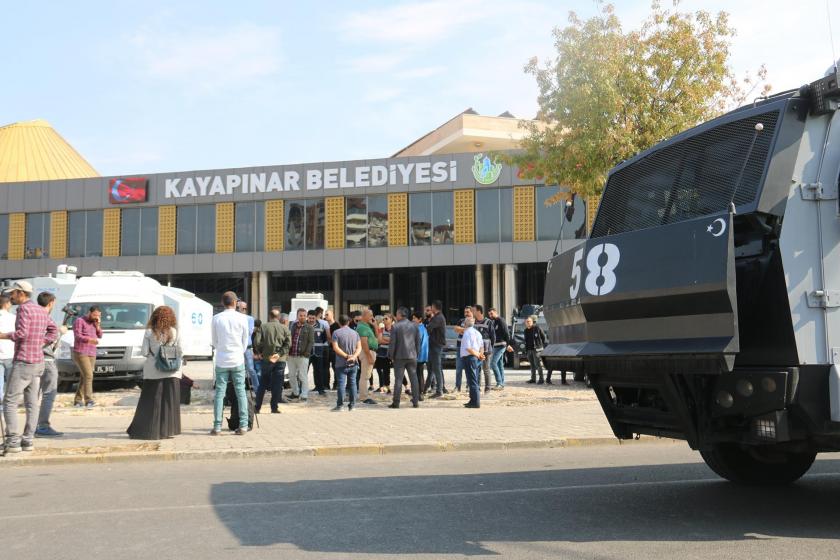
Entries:
[[[667, 2], [667, 0], [666, 0]], [[649, 0], [616, 0], [625, 29]], [[726, 10], [737, 75], [821, 77], [840, 1], [683, 0]], [[42, 118], [102, 175], [388, 157], [472, 107], [533, 117], [523, 72], [591, 0], [0, 0], [0, 125]], [[840, 51], [838, 51], [840, 52]]]

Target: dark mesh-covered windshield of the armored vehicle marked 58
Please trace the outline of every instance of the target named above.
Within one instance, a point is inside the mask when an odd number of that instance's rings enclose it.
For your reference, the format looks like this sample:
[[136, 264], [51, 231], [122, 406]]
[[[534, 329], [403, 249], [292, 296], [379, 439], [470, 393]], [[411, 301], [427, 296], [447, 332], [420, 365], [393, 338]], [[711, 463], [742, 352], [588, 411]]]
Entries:
[[752, 202], [778, 118], [776, 110], [722, 124], [616, 171], [607, 181], [592, 237], [723, 212], [730, 201]]

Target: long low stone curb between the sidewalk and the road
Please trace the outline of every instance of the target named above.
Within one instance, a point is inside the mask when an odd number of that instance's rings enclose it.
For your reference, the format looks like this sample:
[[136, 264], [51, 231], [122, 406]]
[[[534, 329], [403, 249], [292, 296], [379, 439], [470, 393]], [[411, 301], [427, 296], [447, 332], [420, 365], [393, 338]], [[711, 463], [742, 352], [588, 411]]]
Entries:
[[640, 445], [677, 443], [678, 440], [643, 436], [639, 440], [619, 440], [614, 437], [557, 438], [521, 441], [476, 441], [436, 443], [384, 443], [363, 445], [331, 445], [310, 447], [266, 447], [261, 449], [220, 449], [196, 451], [115, 451], [103, 453], [82, 451], [69, 454], [20, 454], [0, 458], [0, 468], [48, 465], [75, 465], [90, 463], [126, 463], [149, 461], [195, 461], [208, 459], [267, 459], [278, 457], [349, 457], [370, 455], [397, 455], [403, 453], [440, 453], [455, 451], [517, 451], [523, 449], [554, 449], [566, 447], [595, 447], [603, 445]]

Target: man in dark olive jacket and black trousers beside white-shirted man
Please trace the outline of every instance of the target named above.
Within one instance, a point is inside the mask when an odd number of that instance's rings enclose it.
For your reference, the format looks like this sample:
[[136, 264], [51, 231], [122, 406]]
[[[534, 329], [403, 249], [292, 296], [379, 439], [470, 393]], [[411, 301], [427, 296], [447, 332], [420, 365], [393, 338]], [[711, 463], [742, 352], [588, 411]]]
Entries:
[[262, 407], [265, 390], [271, 386], [271, 412], [278, 413], [280, 403], [289, 402], [283, 398], [283, 383], [286, 374], [286, 358], [292, 344], [288, 327], [280, 322], [280, 311], [272, 309], [268, 321], [257, 329], [254, 335], [254, 352], [262, 355], [260, 387], [257, 390], [256, 411]]

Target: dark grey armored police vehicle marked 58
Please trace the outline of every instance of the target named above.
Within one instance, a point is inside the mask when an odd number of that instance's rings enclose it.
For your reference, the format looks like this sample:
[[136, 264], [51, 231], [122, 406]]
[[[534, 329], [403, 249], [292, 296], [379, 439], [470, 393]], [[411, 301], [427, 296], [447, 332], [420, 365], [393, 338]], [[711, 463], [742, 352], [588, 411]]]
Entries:
[[622, 162], [549, 262], [544, 360], [588, 376], [616, 437], [684, 439], [746, 484], [840, 450], [838, 102], [833, 69]]

